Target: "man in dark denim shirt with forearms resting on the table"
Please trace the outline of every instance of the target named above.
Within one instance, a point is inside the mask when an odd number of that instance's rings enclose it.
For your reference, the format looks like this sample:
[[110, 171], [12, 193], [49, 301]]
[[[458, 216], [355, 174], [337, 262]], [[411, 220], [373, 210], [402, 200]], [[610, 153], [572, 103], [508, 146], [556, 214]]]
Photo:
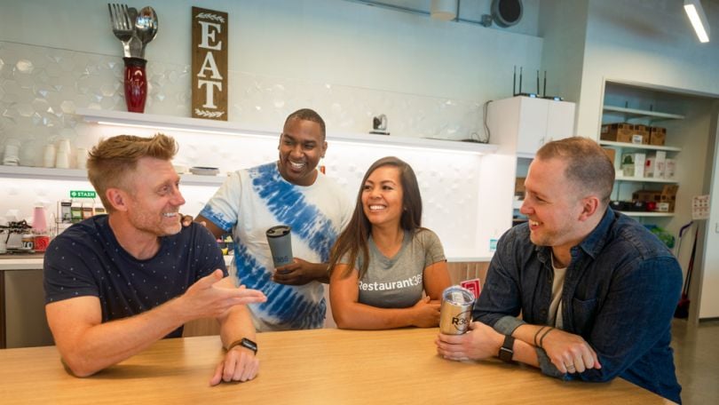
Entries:
[[525, 180], [529, 221], [502, 235], [470, 332], [440, 334], [438, 353], [521, 361], [565, 380], [619, 376], [681, 402], [669, 343], [682, 269], [644, 226], [608, 208], [613, 180], [590, 139], [541, 147]]

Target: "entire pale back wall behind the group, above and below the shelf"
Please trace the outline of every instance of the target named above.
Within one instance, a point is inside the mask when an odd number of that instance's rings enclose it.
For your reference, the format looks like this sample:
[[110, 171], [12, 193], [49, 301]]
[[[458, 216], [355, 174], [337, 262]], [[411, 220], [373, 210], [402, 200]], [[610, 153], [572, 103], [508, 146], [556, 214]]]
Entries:
[[[146, 50], [146, 113], [188, 115], [190, 9], [200, 5], [229, 13], [230, 121], [278, 133], [288, 113], [312, 107], [326, 119], [330, 134], [366, 133], [372, 116], [385, 113], [392, 135], [470, 138], [482, 131], [486, 99], [510, 95], [512, 67], [532, 70], [541, 60], [542, 40], [536, 36], [352, 2], [157, 0], [152, 5], [160, 28]], [[125, 109], [122, 47], [110, 30], [107, 3], [3, 0], [0, 10], [0, 145], [19, 140], [21, 163], [38, 165], [44, 145], [59, 139], [91, 147], [120, 131], [141, 132], [89, 125], [74, 114], [77, 107]], [[536, 7], [531, 10], [526, 18], [536, 24]], [[276, 155], [273, 141], [173, 135], [180, 141], [178, 162], [190, 166], [225, 172]], [[353, 196], [369, 163], [390, 154], [415, 167], [425, 225], [450, 252], [482, 255], [488, 243], [478, 240], [485, 236], [477, 228], [494, 233], [510, 226], [510, 210], [504, 215], [502, 207], [510, 205], [511, 191], [505, 197], [506, 187], [492, 186], [511, 184], [510, 168], [502, 163], [492, 170], [503, 177], [487, 176], [487, 163], [477, 156], [332, 144], [328, 174]], [[482, 179], [494, 183], [482, 185]], [[12, 198], [0, 201], [0, 215], [21, 204], [29, 215], [32, 203], [53, 203], [67, 198], [67, 189], [81, 187], [44, 183], [0, 181], [4, 190], [14, 190]], [[185, 188], [187, 212], [197, 212], [214, 188]], [[456, 232], [462, 228], [467, 229]]]

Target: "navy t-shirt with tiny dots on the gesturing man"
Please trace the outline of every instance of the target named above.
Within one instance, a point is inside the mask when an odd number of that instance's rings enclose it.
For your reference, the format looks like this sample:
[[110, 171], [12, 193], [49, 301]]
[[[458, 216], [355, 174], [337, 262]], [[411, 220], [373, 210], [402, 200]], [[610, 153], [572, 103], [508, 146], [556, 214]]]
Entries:
[[[98, 297], [107, 322], [160, 306], [217, 268], [227, 275], [222, 251], [204, 226], [162, 237], [154, 258], [138, 260], [122, 249], [107, 218], [85, 219], [50, 243], [43, 263], [45, 304]], [[180, 336], [182, 327], [167, 338]]]

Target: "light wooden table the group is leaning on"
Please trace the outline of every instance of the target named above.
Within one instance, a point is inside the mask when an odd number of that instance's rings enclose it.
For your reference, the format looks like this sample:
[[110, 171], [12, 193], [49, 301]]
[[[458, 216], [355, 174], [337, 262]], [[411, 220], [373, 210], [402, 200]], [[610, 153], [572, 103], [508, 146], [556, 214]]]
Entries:
[[620, 378], [562, 382], [500, 361], [440, 358], [437, 329], [297, 330], [257, 335], [260, 373], [210, 387], [219, 338], [157, 342], [93, 377], [67, 375], [54, 346], [0, 350], [0, 401], [11, 403], [664, 403]]

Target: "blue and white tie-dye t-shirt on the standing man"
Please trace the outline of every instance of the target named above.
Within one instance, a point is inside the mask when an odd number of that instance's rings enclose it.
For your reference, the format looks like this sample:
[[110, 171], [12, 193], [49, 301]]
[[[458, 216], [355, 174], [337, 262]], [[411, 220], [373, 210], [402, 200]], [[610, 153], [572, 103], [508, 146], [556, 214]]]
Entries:
[[267, 163], [233, 172], [200, 215], [232, 231], [239, 281], [267, 296], [265, 303], [249, 305], [257, 330], [322, 327], [327, 310], [322, 283], [273, 282], [265, 231], [276, 225], [290, 226], [293, 255], [327, 263], [332, 245], [352, 215], [341, 187], [319, 172], [312, 186], [297, 186], [282, 179], [277, 163]]

